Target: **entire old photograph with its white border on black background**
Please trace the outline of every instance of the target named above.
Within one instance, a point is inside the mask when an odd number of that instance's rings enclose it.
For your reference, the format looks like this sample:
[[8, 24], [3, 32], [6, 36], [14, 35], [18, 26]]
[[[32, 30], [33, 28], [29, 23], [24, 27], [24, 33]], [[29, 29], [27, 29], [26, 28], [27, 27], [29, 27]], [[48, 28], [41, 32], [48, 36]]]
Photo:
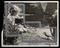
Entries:
[[3, 47], [59, 46], [58, 1], [4, 1]]

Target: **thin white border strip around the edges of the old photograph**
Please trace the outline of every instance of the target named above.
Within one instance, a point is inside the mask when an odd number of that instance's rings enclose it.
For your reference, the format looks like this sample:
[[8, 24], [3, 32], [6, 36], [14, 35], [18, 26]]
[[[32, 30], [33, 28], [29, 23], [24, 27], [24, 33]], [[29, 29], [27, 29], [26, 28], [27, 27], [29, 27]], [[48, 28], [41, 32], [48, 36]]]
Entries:
[[1, 32], [2, 47], [58, 47], [59, 46], [59, 1], [4, 1], [4, 3], [22, 2], [22, 3], [39, 3], [50, 2], [57, 3], [57, 45], [3, 45], [3, 31]]

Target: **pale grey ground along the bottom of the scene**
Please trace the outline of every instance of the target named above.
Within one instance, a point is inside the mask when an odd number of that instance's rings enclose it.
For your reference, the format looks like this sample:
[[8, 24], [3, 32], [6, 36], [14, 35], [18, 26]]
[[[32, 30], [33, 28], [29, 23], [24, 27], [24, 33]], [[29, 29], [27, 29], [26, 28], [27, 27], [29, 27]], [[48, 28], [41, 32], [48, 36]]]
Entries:
[[56, 38], [53, 38], [53, 40], [41, 38], [40, 36], [33, 33], [22, 33], [18, 38], [17, 42], [18, 45], [50, 45], [50, 44], [56, 44]]

